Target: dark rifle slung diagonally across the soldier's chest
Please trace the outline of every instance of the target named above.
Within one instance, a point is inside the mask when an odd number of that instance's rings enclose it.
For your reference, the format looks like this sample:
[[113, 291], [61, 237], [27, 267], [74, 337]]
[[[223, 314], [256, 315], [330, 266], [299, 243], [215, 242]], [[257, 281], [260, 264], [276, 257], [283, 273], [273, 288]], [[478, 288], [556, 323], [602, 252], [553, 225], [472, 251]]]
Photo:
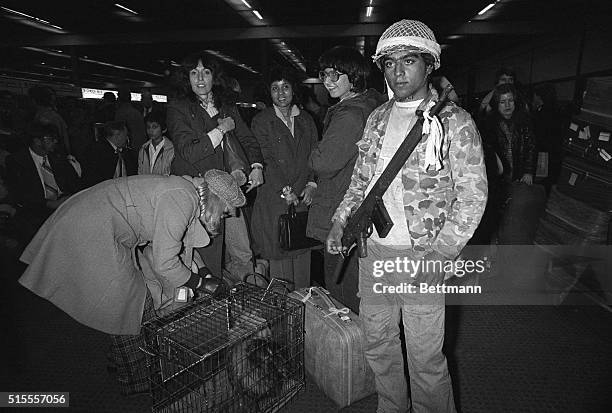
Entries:
[[[429, 111], [431, 116], [435, 116], [440, 112], [451, 90], [453, 90], [453, 86], [450, 84], [444, 88], [438, 102]], [[410, 132], [408, 132], [399, 148], [397, 148], [389, 165], [387, 165], [378, 181], [372, 186], [372, 189], [368, 192], [359, 208], [348, 219], [341, 239], [342, 246], [347, 247], [348, 252], [346, 254], [340, 253], [341, 258], [334, 272], [336, 284], [342, 282], [344, 262], [353, 249], [354, 244], [357, 247], [357, 254], [360, 258], [368, 256], [367, 239], [372, 235], [372, 225], [376, 227], [378, 236], [381, 238], [386, 237], [389, 231], [391, 231], [391, 227], [393, 227], [393, 221], [387, 212], [382, 197], [408, 160], [410, 154], [414, 151], [414, 148], [421, 141], [424, 121], [423, 111], [417, 110], [416, 115], [418, 118], [416, 123], [410, 129]]]

